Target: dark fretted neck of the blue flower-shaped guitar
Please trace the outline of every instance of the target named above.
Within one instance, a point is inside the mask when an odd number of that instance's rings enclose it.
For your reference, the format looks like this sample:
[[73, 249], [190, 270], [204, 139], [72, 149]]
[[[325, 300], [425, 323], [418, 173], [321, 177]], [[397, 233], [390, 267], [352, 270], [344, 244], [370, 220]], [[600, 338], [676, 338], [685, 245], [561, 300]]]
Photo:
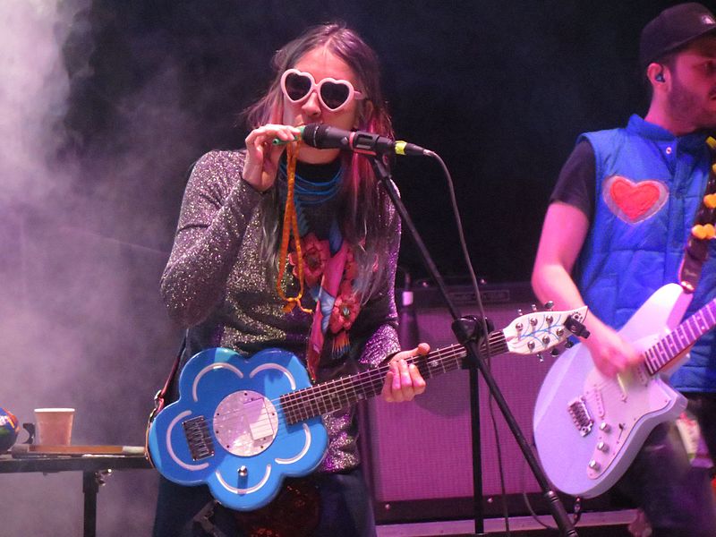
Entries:
[[[501, 330], [490, 332], [489, 343], [490, 354], [507, 352], [507, 340]], [[481, 352], [484, 354], [486, 350], [487, 345], [483, 344]], [[430, 379], [459, 369], [466, 355], [465, 347], [456, 344], [429, 354], [413, 356], [407, 362], [415, 364], [423, 379]], [[286, 422], [303, 422], [379, 395], [389, 369], [386, 363], [355, 375], [284, 394], [281, 396], [281, 406], [286, 413]]]

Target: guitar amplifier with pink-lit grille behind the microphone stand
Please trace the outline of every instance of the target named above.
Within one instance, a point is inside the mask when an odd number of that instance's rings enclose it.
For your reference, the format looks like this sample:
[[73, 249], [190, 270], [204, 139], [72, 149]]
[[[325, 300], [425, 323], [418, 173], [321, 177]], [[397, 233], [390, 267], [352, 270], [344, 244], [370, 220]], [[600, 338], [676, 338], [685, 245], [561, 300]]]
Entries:
[[[479, 315], [472, 289], [450, 286], [448, 292], [463, 315]], [[526, 282], [482, 286], [481, 296], [485, 314], [495, 329], [507, 327], [521, 312], [532, 311], [535, 303]], [[438, 290], [419, 287], [413, 298], [416, 326], [409, 338], [417, 337], [433, 350], [456, 343], [450, 328], [452, 319], [441, 306]], [[405, 330], [405, 325], [402, 329]], [[403, 345], [407, 348], [405, 342]], [[541, 380], [555, 360], [549, 352], [543, 355], [543, 361], [535, 355], [517, 354], [500, 354], [490, 359], [492, 374], [531, 445], [534, 402]], [[362, 454], [379, 522], [472, 516], [469, 377], [466, 370], [434, 377], [428, 380], [425, 393], [412, 403], [386, 403], [380, 397], [368, 402], [362, 417]], [[507, 494], [539, 492], [498, 405], [490, 401], [482, 375], [478, 386], [483, 498], [489, 505], [501, 494], [498, 444]], [[490, 413], [495, 416], [497, 437]], [[524, 508], [521, 498], [520, 505]]]

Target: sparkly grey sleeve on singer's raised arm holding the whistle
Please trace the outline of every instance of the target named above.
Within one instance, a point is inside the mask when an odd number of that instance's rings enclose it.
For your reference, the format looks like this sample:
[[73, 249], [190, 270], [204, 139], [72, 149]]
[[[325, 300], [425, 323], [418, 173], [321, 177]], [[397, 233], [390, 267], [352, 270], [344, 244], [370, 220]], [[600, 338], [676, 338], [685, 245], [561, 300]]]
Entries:
[[205, 320], [222, 299], [243, 233], [261, 200], [241, 178], [243, 153], [212, 151], [186, 185], [161, 292], [183, 328]]

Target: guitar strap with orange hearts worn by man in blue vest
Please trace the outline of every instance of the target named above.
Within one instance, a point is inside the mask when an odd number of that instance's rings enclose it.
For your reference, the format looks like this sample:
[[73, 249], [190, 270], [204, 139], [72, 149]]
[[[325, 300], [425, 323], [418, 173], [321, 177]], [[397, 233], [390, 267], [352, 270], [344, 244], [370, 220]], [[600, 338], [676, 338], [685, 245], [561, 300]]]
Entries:
[[686, 293], [694, 293], [701, 277], [703, 262], [709, 256], [709, 241], [716, 236], [713, 226], [716, 222], [716, 140], [709, 136], [706, 143], [711, 151], [712, 166], [678, 274], [678, 281]]

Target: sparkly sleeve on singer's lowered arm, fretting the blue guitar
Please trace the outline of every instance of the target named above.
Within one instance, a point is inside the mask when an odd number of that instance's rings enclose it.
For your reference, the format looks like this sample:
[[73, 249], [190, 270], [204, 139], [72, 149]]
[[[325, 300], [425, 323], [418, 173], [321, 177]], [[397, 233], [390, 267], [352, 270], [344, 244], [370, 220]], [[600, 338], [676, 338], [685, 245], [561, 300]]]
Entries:
[[400, 350], [396, 331], [396, 268], [400, 250], [400, 217], [390, 200], [386, 202], [390, 204], [390, 220], [387, 226], [388, 268], [379, 289], [364, 308], [366, 322], [373, 327], [365, 341], [360, 358], [360, 362], [367, 366], [378, 365], [388, 354]]

